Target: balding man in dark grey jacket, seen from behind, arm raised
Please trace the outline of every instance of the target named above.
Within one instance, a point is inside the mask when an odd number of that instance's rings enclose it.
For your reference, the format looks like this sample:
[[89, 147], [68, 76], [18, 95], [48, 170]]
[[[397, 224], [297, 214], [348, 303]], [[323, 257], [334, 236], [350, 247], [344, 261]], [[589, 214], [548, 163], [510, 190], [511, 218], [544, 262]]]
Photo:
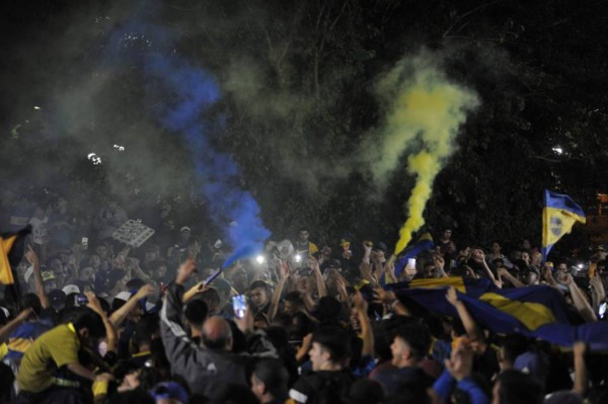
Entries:
[[251, 310], [243, 310], [243, 318], [235, 317], [246, 339], [245, 352], [232, 351], [232, 329], [219, 316], [207, 318], [202, 324], [201, 341], [197, 346], [188, 339], [181, 324], [184, 285], [195, 272], [195, 260], [190, 257], [179, 268], [175, 282], [167, 287], [161, 310], [162, 342], [176, 374], [184, 375], [193, 394], [213, 397], [214, 391], [229, 384], [249, 388], [246, 366], [255, 357], [277, 357], [277, 351], [262, 331], [254, 331]]

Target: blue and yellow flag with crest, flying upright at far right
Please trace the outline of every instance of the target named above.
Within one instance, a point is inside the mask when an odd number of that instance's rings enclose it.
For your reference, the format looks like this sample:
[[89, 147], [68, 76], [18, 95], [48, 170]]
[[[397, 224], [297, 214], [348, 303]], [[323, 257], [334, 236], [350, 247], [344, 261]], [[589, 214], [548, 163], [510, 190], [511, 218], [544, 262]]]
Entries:
[[545, 208], [542, 212], [542, 261], [563, 235], [570, 233], [576, 222], [585, 223], [585, 213], [567, 195], [545, 190]]

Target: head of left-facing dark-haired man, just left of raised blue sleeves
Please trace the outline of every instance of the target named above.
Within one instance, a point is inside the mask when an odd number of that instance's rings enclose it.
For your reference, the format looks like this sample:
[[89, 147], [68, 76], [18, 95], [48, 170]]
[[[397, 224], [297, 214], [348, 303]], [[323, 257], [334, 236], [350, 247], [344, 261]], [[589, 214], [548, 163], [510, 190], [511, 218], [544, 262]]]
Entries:
[[424, 326], [409, 324], [399, 327], [390, 346], [393, 365], [397, 368], [416, 365], [424, 359], [429, 347], [430, 334]]

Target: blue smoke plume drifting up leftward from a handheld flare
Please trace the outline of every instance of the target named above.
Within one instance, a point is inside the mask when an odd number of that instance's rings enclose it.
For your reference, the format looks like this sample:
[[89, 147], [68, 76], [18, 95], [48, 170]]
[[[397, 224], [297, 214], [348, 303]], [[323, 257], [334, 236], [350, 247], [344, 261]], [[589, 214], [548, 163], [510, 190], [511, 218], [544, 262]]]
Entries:
[[[136, 46], [127, 41], [133, 38], [139, 41]], [[261, 222], [254, 197], [235, 185], [240, 171], [234, 160], [209, 144], [207, 133], [218, 124], [218, 118], [206, 115], [221, 98], [218, 83], [209, 72], [173, 50], [175, 38], [154, 24], [131, 22], [111, 36], [111, 47], [120, 48], [120, 52], [109, 61], [143, 63], [147, 94], [162, 100], [154, 105], [155, 118], [187, 142], [212, 220], [225, 229], [234, 249], [222, 265], [225, 268], [261, 251], [271, 233]]]

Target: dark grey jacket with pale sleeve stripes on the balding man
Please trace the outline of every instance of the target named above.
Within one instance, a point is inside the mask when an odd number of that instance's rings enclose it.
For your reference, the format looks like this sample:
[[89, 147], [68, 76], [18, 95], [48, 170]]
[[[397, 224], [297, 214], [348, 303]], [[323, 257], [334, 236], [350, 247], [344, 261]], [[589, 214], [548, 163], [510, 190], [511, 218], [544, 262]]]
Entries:
[[175, 283], [167, 288], [161, 310], [162, 343], [171, 363], [171, 372], [181, 375], [192, 394], [212, 397], [225, 385], [246, 386], [246, 366], [254, 358], [276, 358], [277, 351], [261, 332], [246, 335], [247, 352], [234, 354], [224, 349], [197, 346], [187, 337], [181, 324], [184, 287]]

